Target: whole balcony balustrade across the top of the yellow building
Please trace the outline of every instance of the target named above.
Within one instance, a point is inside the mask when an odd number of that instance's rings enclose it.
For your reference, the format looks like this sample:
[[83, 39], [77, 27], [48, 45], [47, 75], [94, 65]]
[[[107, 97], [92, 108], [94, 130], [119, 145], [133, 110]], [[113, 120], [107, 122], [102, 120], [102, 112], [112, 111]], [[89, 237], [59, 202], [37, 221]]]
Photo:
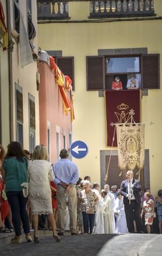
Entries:
[[71, 2], [76, 2], [75, 11], [78, 13], [80, 9], [79, 7], [77, 8], [77, 2], [88, 2], [88, 5], [90, 4], [90, 14], [87, 19], [151, 17], [156, 15], [154, 12], [153, 0], [64, 0], [62, 2], [57, 0], [37, 0], [38, 21], [70, 19], [69, 5]]

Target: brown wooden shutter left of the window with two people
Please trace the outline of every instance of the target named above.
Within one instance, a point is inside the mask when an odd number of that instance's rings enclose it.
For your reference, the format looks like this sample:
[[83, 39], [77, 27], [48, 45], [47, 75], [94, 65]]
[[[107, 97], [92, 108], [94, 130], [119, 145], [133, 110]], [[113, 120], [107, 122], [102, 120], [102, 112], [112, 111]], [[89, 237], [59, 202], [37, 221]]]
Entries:
[[86, 56], [87, 91], [104, 90], [104, 56]]

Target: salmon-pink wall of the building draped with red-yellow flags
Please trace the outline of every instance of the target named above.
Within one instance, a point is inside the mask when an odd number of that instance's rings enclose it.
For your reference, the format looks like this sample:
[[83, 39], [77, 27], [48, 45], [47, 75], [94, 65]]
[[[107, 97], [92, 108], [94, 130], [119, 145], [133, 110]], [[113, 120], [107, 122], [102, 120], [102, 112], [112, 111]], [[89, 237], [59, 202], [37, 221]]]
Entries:
[[[58, 84], [55, 83], [54, 73], [48, 64], [39, 61], [38, 70], [40, 73], [39, 84], [39, 129], [40, 144], [48, 148], [47, 123], [50, 122], [51, 133], [51, 163], [57, 161], [56, 150], [56, 126], [60, 127], [60, 149], [63, 148], [63, 131], [66, 137], [66, 149], [69, 145], [69, 133], [72, 131], [70, 113], [64, 114], [61, 94]], [[64, 74], [66, 75], [66, 74]]]

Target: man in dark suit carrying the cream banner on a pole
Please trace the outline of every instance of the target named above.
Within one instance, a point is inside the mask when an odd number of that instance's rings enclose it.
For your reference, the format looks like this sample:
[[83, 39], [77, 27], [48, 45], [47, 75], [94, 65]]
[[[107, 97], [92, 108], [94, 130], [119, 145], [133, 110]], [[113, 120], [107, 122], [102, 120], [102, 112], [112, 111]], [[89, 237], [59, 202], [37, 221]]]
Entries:
[[138, 180], [133, 179], [133, 172], [127, 171], [126, 180], [120, 185], [121, 194], [124, 196], [123, 203], [129, 233], [134, 232], [133, 219], [136, 222], [137, 233], [142, 233], [141, 220], [141, 185]]

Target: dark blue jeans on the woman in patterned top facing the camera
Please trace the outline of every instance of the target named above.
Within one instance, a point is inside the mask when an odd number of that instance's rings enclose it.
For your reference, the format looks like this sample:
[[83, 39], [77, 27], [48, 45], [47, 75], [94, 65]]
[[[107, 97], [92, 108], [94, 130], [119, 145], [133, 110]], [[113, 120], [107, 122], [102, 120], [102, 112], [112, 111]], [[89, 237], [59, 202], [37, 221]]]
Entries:
[[95, 213], [90, 214], [90, 213], [82, 212], [82, 215], [83, 215], [84, 233], [88, 233], [89, 229], [90, 229], [90, 233], [92, 233], [93, 227], [94, 227]]

